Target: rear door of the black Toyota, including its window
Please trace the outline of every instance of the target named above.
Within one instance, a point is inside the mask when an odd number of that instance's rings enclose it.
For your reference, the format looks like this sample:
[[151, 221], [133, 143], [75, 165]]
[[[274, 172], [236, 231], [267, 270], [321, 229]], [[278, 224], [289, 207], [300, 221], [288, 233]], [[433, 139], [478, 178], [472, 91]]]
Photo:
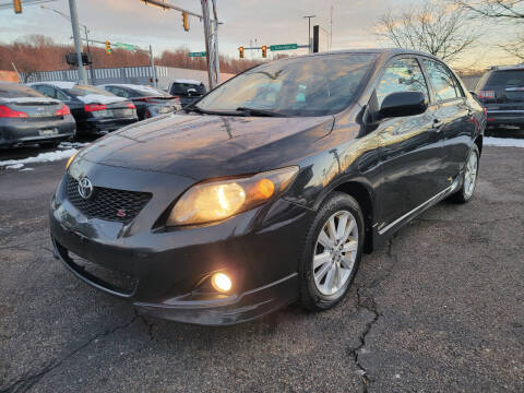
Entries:
[[443, 139], [442, 170], [445, 183], [441, 184], [441, 189], [444, 189], [458, 176], [472, 145], [476, 126], [473, 108], [469, 107], [453, 72], [433, 59], [422, 58], [422, 66], [437, 103], [436, 131]]

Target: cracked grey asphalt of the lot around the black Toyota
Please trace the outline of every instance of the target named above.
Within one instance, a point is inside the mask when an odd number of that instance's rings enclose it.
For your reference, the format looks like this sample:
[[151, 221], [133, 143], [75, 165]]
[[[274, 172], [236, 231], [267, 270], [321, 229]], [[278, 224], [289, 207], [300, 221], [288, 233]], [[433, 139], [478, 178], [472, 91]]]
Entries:
[[0, 392], [523, 392], [524, 150], [485, 147], [476, 195], [365, 255], [322, 313], [202, 327], [144, 318], [51, 255], [64, 163], [0, 169]]

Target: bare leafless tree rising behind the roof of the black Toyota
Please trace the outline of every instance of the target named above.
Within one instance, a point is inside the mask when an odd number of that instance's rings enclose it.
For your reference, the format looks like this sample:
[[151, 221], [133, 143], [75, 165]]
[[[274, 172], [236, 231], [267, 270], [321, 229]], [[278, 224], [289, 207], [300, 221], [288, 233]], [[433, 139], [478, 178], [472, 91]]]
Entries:
[[465, 11], [427, 0], [402, 13], [383, 14], [377, 35], [398, 48], [427, 51], [443, 60], [457, 59], [476, 41], [478, 34], [464, 23]]

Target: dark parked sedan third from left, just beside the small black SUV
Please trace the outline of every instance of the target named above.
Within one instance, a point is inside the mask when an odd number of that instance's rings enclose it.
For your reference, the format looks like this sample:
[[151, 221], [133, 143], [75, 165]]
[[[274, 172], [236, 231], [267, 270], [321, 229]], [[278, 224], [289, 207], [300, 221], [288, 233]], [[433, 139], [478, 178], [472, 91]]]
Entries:
[[119, 97], [131, 99], [136, 107], [139, 120], [172, 114], [181, 109], [180, 97], [175, 97], [159, 88], [133, 84], [106, 84], [98, 87]]

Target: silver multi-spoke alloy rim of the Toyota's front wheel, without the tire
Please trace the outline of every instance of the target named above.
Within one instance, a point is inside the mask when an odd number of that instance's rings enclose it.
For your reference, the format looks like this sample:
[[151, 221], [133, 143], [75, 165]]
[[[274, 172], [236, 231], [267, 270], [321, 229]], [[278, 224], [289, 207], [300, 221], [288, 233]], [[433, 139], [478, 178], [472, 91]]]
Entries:
[[348, 211], [338, 211], [323, 225], [313, 255], [317, 289], [325, 296], [336, 294], [349, 279], [358, 251], [357, 221]]

